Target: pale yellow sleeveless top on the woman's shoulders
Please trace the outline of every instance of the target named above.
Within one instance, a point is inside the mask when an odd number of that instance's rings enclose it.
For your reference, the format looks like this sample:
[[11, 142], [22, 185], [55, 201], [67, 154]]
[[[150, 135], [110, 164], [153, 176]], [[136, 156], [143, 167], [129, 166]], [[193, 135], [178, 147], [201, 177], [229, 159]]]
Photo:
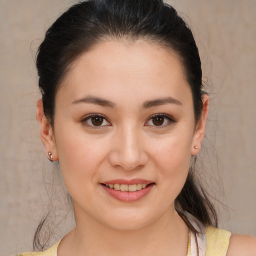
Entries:
[[[212, 226], [206, 227], [207, 248], [205, 256], [226, 256], [227, 247], [229, 244], [230, 232], [215, 228]], [[57, 256], [57, 247], [60, 241], [52, 247], [40, 252], [25, 252], [14, 256]], [[190, 235], [188, 234], [187, 256], [196, 256], [190, 250]]]

